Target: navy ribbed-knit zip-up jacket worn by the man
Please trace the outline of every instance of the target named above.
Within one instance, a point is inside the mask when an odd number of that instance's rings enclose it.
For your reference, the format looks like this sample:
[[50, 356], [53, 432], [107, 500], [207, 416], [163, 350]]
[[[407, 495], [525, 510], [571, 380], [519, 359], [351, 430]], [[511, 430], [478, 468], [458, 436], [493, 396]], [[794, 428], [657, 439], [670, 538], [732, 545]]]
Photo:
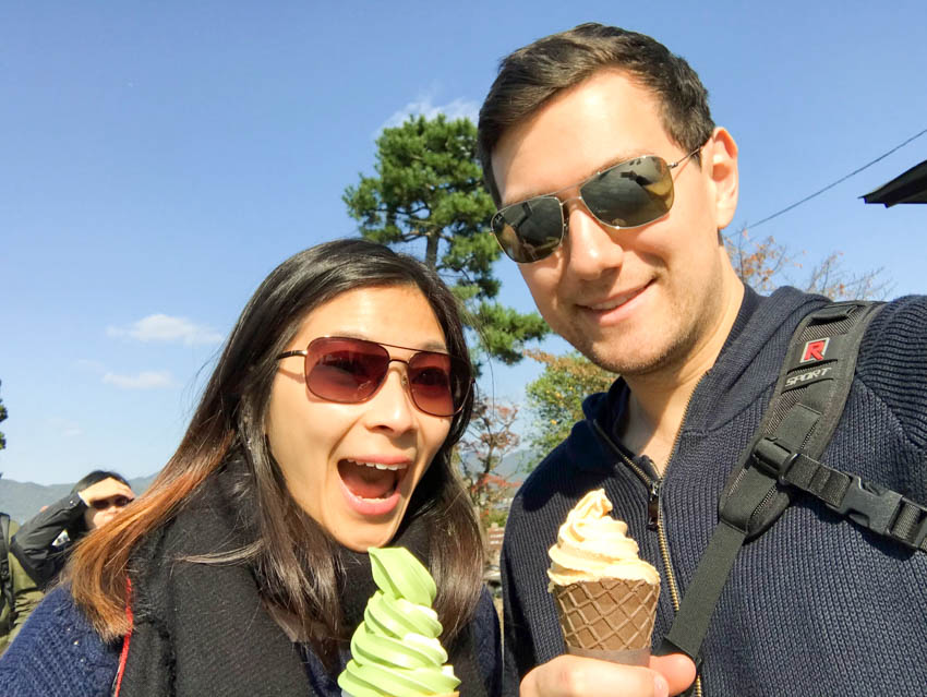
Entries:
[[[718, 501], [758, 428], [800, 320], [827, 302], [747, 289], [714, 366], [696, 387], [664, 476], [625, 453], [618, 380], [526, 480], [503, 545], [505, 694], [564, 652], [547, 549], [567, 512], [604, 486], [640, 555], [661, 574], [654, 647], [669, 632], [718, 522]], [[593, 425], [593, 422], [599, 428]], [[927, 298], [888, 303], [866, 332], [843, 417], [822, 461], [927, 504]], [[703, 645], [705, 695], [927, 695], [927, 554], [798, 494], [746, 544]]]

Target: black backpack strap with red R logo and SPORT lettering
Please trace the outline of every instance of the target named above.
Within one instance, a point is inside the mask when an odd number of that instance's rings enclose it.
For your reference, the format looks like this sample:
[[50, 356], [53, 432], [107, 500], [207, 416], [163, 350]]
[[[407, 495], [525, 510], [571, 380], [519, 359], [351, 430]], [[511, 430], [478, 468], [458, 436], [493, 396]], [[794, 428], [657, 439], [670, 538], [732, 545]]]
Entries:
[[831, 303], [798, 325], [769, 408], [727, 480], [720, 520], [659, 653], [682, 651], [700, 668], [701, 644], [738, 551], [775, 522], [796, 490], [927, 551], [926, 508], [818, 461], [843, 413], [863, 335], [880, 307]]

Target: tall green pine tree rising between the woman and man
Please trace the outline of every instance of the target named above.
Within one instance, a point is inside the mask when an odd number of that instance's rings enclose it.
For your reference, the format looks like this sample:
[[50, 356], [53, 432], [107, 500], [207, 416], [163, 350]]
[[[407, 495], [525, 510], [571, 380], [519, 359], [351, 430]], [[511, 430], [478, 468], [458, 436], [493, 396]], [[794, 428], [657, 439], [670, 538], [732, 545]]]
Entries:
[[424, 261], [467, 307], [483, 348], [505, 363], [522, 358], [526, 341], [543, 337], [538, 313], [494, 302], [501, 284], [493, 263], [501, 250], [490, 232], [495, 212], [477, 159], [469, 119], [411, 117], [376, 140], [375, 176], [360, 176], [342, 200], [360, 233], [404, 251], [424, 243]]

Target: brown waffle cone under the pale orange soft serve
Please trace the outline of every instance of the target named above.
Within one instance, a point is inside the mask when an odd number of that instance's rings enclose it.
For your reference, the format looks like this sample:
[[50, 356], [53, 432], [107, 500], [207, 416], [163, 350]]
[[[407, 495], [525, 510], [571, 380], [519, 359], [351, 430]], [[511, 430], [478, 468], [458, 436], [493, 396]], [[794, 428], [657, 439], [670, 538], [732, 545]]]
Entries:
[[[551, 592], [570, 653], [646, 662], [660, 597], [659, 585], [603, 578], [568, 586], [554, 585]], [[629, 656], [611, 656], [616, 651], [629, 652]]]

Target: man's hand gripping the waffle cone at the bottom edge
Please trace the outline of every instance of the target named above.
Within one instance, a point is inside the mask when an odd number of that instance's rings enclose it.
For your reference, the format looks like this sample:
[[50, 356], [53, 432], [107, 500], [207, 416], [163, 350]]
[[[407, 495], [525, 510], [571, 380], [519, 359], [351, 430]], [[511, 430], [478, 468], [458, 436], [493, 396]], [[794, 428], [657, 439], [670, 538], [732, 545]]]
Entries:
[[651, 657], [650, 668], [621, 665], [579, 656], [558, 656], [521, 681], [521, 697], [667, 697], [695, 681], [696, 670], [682, 653]]

